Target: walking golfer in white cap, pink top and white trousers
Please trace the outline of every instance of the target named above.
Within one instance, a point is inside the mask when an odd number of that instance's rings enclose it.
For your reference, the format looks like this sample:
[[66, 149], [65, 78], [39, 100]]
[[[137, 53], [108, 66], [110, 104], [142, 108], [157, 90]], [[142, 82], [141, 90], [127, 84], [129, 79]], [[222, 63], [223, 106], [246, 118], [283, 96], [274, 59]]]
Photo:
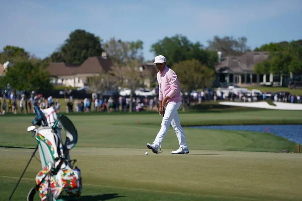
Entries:
[[[181, 95], [177, 75], [173, 70], [166, 66], [166, 58], [162, 55], [156, 56], [154, 59], [159, 72], [157, 80], [159, 82], [159, 114], [163, 115], [162, 127], [157, 134], [153, 144], [147, 143], [147, 147], [153, 153], [158, 153], [158, 149], [164, 140], [170, 124], [175, 130], [179, 141], [179, 149], [172, 151], [172, 154], [188, 154], [189, 149], [185, 139], [183, 128], [180, 125], [180, 120], [177, 110], [181, 105]], [[165, 112], [164, 112], [165, 111]]]

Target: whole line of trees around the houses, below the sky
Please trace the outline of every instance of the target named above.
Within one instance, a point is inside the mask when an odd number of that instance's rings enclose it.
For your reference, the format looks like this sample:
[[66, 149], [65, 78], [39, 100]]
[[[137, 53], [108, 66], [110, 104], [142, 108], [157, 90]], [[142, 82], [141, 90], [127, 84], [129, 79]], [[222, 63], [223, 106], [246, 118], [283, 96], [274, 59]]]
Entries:
[[[270, 56], [267, 61], [257, 64], [255, 71], [259, 74], [288, 74], [289, 71], [300, 73], [301, 41], [269, 43], [256, 48], [254, 51], [269, 51]], [[88, 57], [101, 56], [102, 52], [106, 52], [114, 67], [109, 72], [91, 77], [91, 88], [101, 93], [117, 86], [134, 91], [143, 85], [143, 79], [148, 76], [137, 69], [143, 62], [147, 62], [142, 51], [141, 40], [123, 41], [113, 37], [103, 41], [93, 33], [77, 29], [44, 59], [37, 58], [20, 47], [4, 47], [0, 52], [0, 63], [10, 61], [13, 66], [7, 68], [6, 76], [0, 79], [0, 84], [10, 84], [17, 90], [26, 91], [51, 89], [53, 86], [49, 84], [50, 76], [46, 69], [51, 62], [80, 65]], [[154, 55], [166, 57], [167, 66], [179, 75], [181, 90], [185, 92], [211, 86], [218, 62], [217, 51], [221, 51], [224, 56], [238, 56], [252, 50], [247, 46], [246, 37], [214, 36], [204, 46], [198, 41], [192, 42], [186, 36], [176, 34], [156, 41], [150, 51]]]

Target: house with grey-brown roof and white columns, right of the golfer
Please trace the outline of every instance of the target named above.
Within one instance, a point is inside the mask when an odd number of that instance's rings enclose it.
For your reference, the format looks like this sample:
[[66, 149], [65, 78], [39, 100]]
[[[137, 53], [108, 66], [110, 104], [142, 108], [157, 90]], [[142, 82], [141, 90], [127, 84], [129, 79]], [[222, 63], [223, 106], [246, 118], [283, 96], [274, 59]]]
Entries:
[[254, 66], [268, 58], [269, 52], [247, 52], [242, 56], [225, 56], [215, 67], [214, 85], [281, 85], [282, 77], [273, 74], [256, 74]]

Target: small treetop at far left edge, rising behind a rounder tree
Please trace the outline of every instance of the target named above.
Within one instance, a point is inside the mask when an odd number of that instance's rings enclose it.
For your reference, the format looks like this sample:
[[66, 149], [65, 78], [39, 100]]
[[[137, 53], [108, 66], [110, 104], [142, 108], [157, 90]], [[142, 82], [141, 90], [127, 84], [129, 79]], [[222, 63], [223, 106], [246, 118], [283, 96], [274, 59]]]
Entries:
[[30, 54], [23, 48], [7, 45], [3, 48], [3, 52], [0, 52], [0, 63], [26, 61], [29, 57]]

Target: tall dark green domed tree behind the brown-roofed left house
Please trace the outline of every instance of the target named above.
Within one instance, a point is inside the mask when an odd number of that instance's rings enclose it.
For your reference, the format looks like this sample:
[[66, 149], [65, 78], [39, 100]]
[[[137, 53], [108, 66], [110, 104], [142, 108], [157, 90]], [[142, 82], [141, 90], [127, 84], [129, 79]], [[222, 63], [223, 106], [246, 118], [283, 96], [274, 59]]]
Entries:
[[81, 64], [88, 57], [101, 56], [101, 39], [85, 30], [77, 29], [70, 33], [64, 44], [51, 55], [53, 62]]

